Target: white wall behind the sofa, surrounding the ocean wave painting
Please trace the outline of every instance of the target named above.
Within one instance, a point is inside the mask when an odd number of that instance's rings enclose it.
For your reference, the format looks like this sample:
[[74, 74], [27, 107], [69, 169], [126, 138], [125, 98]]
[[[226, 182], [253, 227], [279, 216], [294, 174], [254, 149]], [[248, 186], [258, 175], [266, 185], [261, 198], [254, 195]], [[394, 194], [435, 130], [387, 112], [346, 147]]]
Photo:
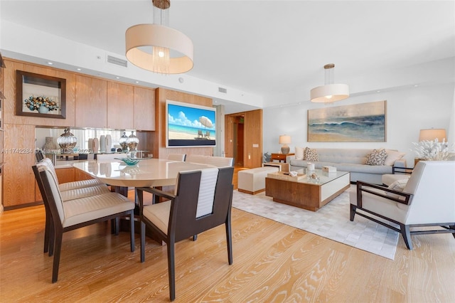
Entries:
[[[301, 102], [282, 107], [264, 108], [263, 152], [279, 152], [280, 134], [289, 134], [294, 147], [311, 148], [367, 148], [398, 149], [406, 152], [407, 165], [414, 166], [414, 145], [419, 139], [419, 130], [425, 128], [449, 129], [451, 107], [454, 100], [454, 83], [422, 85], [368, 95], [349, 97], [346, 100], [323, 105]], [[387, 100], [387, 142], [307, 142], [307, 112], [324, 106], [352, 105]]]

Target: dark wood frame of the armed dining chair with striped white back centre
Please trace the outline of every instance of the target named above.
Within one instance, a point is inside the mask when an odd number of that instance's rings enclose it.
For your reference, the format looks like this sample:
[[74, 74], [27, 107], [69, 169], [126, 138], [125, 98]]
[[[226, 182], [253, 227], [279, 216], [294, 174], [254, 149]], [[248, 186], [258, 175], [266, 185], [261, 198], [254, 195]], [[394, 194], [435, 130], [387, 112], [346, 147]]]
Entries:
[[[141, 262], [145, 261], [145, 230], [146, 225], [157, 235], [159, 240], [167, 245], [168, 254], [168, 277], [169, 296], [171, 301], [176, 298], [175, 285], [175, 243], [190, 238], [196, 240], [196, 235], [205, 230], [225, 224], [226, 242], [228, 248], [228, 262], [232, 265], [232, 231], [231, 231], [231, 208], [232, 208], [232, 175], [233, 167], [223, 167], [218, 171], [218, 180], [215, 187], [213, 213], [196, 218], [196, 208], [199, 195], [200, 171], [183, 172], [178, 175], [178, 192], [176, 195], [166, 193], [157, 188], [136, 188], [139, 200], [139, 216], [141, 218]], [[167, 235], [156, 225], [143, 216], [144, 201], [142, 192], [153, 193], [154, 196], [162, 196], [171, 200], [171, 213], [168, 223]], [[156, 201], [154, 199], [153, 201]]]

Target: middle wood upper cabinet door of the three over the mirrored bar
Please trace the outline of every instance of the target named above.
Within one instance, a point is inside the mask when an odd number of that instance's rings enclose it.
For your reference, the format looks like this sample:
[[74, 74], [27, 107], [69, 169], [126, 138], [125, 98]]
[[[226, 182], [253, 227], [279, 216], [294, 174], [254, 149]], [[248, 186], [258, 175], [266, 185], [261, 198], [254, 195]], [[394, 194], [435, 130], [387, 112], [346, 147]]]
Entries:
[[107, 83], [107, 128], [134, 129], [133, 95], [132, 85]]

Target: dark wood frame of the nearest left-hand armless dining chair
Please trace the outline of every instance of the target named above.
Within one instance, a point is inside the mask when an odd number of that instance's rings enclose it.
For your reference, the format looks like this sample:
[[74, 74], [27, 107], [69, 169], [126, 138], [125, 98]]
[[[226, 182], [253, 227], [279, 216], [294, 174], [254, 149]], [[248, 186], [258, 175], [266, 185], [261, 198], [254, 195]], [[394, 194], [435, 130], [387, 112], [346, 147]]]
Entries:
[[[46, 249], [48, 248], [49, 251], [49, 257], [53, 255], [53, 270], [52, 270], [52, 282], [55, 283], [58, 280], [58, 267], [60, 265], [60, 252], [62, 249], [62, 240], [63, 240], [63, 233], [70, 231], [70, 230], [75, 230], [77, 228], [82, 228], [87, 225], [92, 225], [95, 223], [100, 223], [104, 222], [107, 220], [115, 219], [116, 223], [118, 223], [118, 218], [121, 216], [129, 216], [129, 223], [130, 223], [130, 250], [134, 252], [134, 209], [130, 211], [122, 211], [120, 213], [114, 213], [110, 216], [105, 216], [102, 218], [97, 218], [95, 220], [90, 220], [87, 222], [83, 222], [80, 224], [76, 225], [71, 225], [68, 227], [63, 227], [60, 217], [58, 215], [58, 210], [57, 206], [55, 203], [55, 199], [52, 194], [52, 190], [50, 189], [50, 181], [48, 180], [48, 176], [45, 174], [45, 171], [38, 171], [38, 168], [34, 165], [33, 167], [33, 172], [35, 173], [36, 181], [38, 183], [38, 187], [41, 192], [41, 196], [43, 196], [43, 203], [45, 206], [45, 212], [46, 212], [46, 226], [45, 228], [48, 229], [48, 234], [46, 235], [45, 232], [45, 238], [47, 237], [47, 245], [46, 245], [46, 239], [44, 240], [45, 246], [44, 246], [44, 252], [46, 252]], [[48, 220], [50, 219], [50, 220]], [[116, 227], [117, 231], [119, 230], [118, 227]], [[118, 232], [117, 232], [118, 234]]]

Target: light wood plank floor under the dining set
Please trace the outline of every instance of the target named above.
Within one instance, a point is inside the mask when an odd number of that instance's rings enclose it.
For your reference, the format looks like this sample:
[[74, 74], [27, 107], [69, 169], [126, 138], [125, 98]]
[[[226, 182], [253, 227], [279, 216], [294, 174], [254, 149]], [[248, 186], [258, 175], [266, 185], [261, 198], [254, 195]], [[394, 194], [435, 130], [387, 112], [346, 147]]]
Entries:
[[[166, 247], [100, 223], [65, 233], [58, 282], [43, 253], [44, 207], [0, 215], [0, 302], [168, 302]], [[232, 210], [224, 227], [176, 245], [176, 302], [455, 302], [455, 239], [417, 235], [395, 260]]]

